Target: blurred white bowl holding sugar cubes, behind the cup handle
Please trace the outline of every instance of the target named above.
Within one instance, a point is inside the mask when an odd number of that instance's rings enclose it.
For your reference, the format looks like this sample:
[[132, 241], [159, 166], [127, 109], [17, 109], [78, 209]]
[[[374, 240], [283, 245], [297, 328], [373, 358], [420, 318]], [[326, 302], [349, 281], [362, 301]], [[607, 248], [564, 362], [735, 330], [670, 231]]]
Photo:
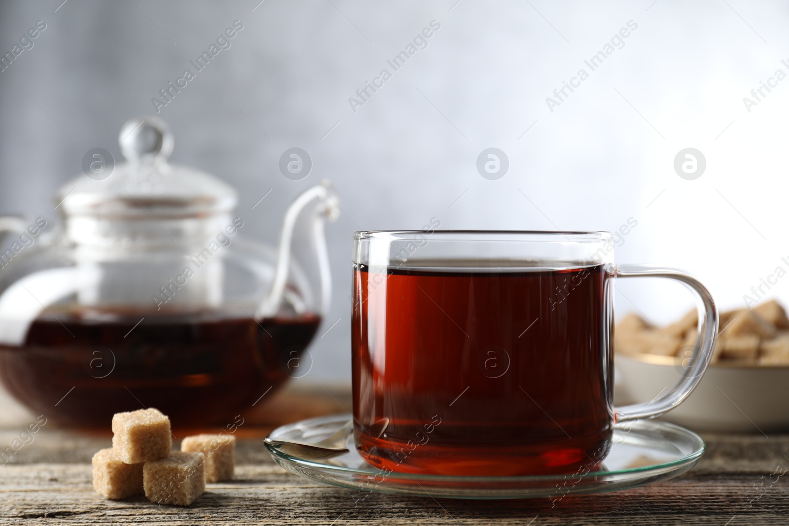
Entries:
[[[682, 374], [672, 356], [616, 353], [617, 405], [649, 401]], [[789, 365], [710, 364], [690, 397], [660, 416], [693, 431], [789, 430]]]

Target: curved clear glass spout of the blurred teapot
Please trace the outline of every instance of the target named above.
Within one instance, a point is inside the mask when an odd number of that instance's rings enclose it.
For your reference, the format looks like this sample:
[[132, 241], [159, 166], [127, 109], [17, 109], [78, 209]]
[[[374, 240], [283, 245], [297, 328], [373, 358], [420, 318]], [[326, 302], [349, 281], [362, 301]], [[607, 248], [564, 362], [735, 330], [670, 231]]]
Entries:
[[[339, 199], [331, 182], [308, 188], [285, 213], [274, 279], [256, 318], [274, 317], [290, 304], [296, 314], [322, 315], [331, 300], [331, 273], [323, 222], [337, 220]], [[295, 285], [291, 286], [291, 283]]]

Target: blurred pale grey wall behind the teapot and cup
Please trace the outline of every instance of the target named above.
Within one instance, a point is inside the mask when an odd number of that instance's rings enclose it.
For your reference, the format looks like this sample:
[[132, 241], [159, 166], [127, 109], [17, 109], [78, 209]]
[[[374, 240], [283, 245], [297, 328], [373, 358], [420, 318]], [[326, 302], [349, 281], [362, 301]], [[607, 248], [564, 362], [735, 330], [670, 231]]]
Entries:
[[[145, 114], [170, 125], [173, 162], [239, 190], [247, 237], [275, 243], [288, 203], [331, 179], [343, 211], [327, 224], [334, 297], [298, 382], [350, 379], [358, 229], [635, 221], [618, 263], [682, 267], [720, 308], [742, 308], [789, 269], [787, 17], [783, 2], [742, 0], [2, 2], [3, 55], [44, 28], [0, 71], [0, 214], [57, 222], [54, 192], [85, 153], [120, 161], [120, 126]], [[234, 22], [230, 47], [162, 99]], [[404, 50], [395, 71], [387, 61]], [[383, 87], [357, 95], [382, 69]], [[291, 147], [312, 159], [301, 181], [279, 170]], [[506, 172], [477, 169], [490, 147]], [[693, 305], [659, 282], [617, 288], [620, 315], [655, 323]], [[789, 278], [763, 290], [789, 300]]]

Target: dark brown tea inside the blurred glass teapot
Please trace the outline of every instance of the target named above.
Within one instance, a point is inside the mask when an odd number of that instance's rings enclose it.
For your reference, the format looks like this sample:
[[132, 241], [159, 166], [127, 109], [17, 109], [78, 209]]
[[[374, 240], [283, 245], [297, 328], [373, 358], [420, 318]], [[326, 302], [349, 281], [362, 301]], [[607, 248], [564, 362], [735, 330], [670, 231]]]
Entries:
[[67, 424], [106, 428], [115, 412], [145, 406], [177, 427], [224, 425], [299, 375], [320, 323], [315, 315], [142, 317], [37, 319], [24, 346], [0, 348], [2, 381], [36, 414]]

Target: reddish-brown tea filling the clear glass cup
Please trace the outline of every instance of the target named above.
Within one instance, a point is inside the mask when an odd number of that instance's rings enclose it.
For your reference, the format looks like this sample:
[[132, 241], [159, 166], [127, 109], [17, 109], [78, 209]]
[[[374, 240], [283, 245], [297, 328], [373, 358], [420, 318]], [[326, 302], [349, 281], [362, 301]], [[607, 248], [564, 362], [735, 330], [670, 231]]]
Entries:
[[362, 457], [446, 475], [599, 464], [613, 426], [604, 267], [440, 267], [354, 270]]

